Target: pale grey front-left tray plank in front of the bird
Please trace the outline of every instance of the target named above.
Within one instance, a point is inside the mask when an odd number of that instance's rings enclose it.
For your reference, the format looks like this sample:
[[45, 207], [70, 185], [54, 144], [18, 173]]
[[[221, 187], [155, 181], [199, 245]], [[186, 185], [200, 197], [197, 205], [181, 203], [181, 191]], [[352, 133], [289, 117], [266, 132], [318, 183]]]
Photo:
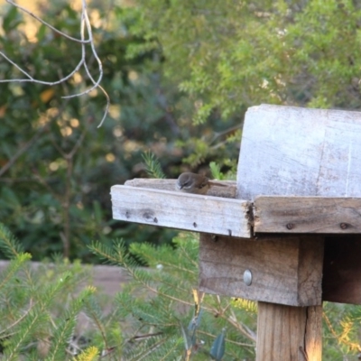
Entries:
[[168, 190], [111, 188], [113, 218], [216, 235], [250, 237], [249, 202]]

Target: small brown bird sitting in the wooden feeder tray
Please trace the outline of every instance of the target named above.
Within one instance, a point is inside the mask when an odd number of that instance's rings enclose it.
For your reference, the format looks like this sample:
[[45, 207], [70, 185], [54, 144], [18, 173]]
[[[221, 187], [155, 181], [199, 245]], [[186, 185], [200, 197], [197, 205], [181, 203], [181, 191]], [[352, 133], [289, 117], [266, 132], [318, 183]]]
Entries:
[[207, 194], [210, 187], [227, 187], [227, 184], [217, 180], [209, 180], [208, 177], [186, 171], [181, 173], [176, 182], [176, 190], [193, 194]]

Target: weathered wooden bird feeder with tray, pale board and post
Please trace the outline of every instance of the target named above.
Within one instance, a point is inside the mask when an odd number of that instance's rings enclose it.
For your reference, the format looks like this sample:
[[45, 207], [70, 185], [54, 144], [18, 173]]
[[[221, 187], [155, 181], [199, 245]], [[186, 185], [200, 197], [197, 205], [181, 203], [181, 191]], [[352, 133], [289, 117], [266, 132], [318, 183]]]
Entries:
[[113, 217], [199, 232], [200, 291], [258, 301], [256, 360], [320, 361], [322, 301], [361, 303], [361, 113], [253, 106], [236, 182], [174, 187], [116, 185]]

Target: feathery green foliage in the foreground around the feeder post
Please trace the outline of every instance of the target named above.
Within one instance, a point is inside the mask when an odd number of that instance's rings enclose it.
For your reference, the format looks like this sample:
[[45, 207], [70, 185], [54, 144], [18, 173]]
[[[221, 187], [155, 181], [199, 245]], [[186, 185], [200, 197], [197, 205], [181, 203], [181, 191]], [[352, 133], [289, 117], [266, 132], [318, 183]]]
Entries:
[[[0, 225], [0, 249], [15, 239]], [[6, 360], [235, 360], [255, 358], [255, 302], [205, 295], [198, 284], [199, 243], [181, 234], [173, 246], [95, 242], [91, 252], [122, 266], [129, 282], [107, 308], [89, 267], [55, 257], [29, 263], [17, 248], [0, 279], [0, 358]], [[148, 264], [147, 268], [141, 264]], [[360, 351], [360, 307], [325, 303], [323, 359]], [[87, 327], [79, 328], [86, 315]], [[188, 325], [186, 327], [185, 325]]]

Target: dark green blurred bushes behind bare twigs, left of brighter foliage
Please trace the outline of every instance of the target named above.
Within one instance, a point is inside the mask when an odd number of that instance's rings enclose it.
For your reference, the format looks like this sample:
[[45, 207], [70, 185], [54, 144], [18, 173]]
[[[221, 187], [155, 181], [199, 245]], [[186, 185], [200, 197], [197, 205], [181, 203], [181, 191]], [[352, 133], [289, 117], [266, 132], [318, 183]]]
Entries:
[[[35, 260], [55, 252], [97, 262], [87, 247], [94, 238], [105, 244], [118, 236], [127, 243], [170, 242], [173, 231], [112, 220], [110, 187], [146, 176], [146, 151], [154, 154], [167, 178], [190, 167], [198, 171], [210, 161], [217, 161], [222, 171], [232, 166], [223, 159], [236, 164], [238, 150], [227, 142], [234, 118], [222, 123], [212, 111], [209, 124], [192, 125], [194, 99], [162, 76], [166, 60], [159, 41], [131, 31], [143, 22], [141, 9], [94, 0], [88, 11], [97, 19], [93, 35], [104, 69], [101, 85], [111, 98], [100, 129], [106, 104], [101, 92], [61, 98], [90, 85], [81, 71], [54, 87], [31, 82], [0, 87], [0, 219]], [[0, 47], [33, 78], [56, 81], [78, 64], [79, 43], [40, 24], [30, 35], [26, 26], [20, 27], [27, 17], [12, 5], [0, 12], [5, 19]], [[79, 37], [79, 13], [69, 2], [42, 6], [40, 15]], [[87, 60], [96, 77], [96, 62]], [[4, 59], [0, 69], [0, 79], [23, 78]]]

